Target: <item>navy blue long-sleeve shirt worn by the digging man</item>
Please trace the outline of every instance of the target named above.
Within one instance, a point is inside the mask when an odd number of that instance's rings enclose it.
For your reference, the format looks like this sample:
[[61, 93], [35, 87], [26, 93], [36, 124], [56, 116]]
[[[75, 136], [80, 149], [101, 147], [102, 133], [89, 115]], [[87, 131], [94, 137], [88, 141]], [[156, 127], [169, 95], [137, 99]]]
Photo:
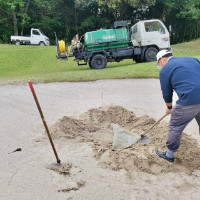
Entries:
[[172, 102], [173, 90], [179, 105], [200, 104], [200, 62], [192, 57], [172, 57], [160, 71], [160, 84], [166, 103]]

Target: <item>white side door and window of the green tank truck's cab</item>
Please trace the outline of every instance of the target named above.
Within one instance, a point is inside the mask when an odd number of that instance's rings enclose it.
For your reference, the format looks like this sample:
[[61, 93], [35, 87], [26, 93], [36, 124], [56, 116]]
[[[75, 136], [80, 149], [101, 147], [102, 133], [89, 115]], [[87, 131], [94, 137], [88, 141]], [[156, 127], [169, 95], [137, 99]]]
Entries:
[[156, 45], [159, 49], [170, 47], [169, 32], [160, 21], [144, 22], [144, 38], [142, 46]]

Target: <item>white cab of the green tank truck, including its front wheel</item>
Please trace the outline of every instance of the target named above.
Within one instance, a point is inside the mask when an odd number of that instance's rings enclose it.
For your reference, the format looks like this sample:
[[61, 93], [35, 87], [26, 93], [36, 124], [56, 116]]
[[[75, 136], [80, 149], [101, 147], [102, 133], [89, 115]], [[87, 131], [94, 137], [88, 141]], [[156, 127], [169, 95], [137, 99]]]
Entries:
[[131, 27], [131, 42], [142, 50], [137, 61], [153, 61], [159, 50], [170, 49], [169, 32], [158, 19], [142, 20]]

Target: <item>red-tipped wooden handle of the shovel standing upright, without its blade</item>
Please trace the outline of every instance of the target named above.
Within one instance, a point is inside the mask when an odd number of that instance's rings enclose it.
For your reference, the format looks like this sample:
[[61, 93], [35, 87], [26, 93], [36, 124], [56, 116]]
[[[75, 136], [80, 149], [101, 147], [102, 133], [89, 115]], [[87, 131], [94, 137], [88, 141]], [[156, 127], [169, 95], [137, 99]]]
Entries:
[[38, 111], [39, 111], [39, 113], [40, 113], [40, 117], [41, 117], [42, 122], [43, 122], [43, 124], [44, 124], [44, 127], [45, 127], [45, 129], [46, 129], [47, 136], [48, 136], [49, 141], [50, 141], [50, 143], [51, 143], [51, 147], [52, 147], [52, 149], [53, 149], [53, 151], [54, 151], [54, 154], [55, 154], [57, 163], [60, 163], [61, 161], [60, 161], [60, 159], [59, 159], [59, 157], [58, 157], [58, 154], [57, 154], [57, 152], [56, 152], [56, 148], [55, 148], [54, 143], [53, 143], [53, 140], [52, 140], [52, 138], [51, 138], [51, 134], [50, 134], [50, 132], [49, 132], [47, 123], [46, 123], [46, 121], [45, 121], [45, 119], [44, 119], [44, 115], [43, 115], [43, 113], [42, 113], [42, 109], [41, 109], [41, 107], [40, 107], [39, 101], [38, 101], [37, 96], [36, 96], [36, 94], [35, 94], [35, 90], [34, 90], [33, 84], [32, 84], [31, 81], [28, 81], [28, 84], [29, 84], [29, 87], [30, 87], [31, 92], [32, 92], [32, 94], [33, 94], [33, 98], [34, 98], [35, 103], [36, 103], [36, 105], [37, 105]]

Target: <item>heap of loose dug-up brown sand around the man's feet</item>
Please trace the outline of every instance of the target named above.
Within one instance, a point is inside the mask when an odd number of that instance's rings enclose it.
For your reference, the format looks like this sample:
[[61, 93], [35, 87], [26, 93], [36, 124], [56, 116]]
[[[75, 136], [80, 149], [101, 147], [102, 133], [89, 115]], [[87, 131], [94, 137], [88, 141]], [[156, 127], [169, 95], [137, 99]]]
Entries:
[[119, 124], [125, 130], [142, 134], [155, 121], [149, 116], [136, 117], [133, 112], [120, 106], [90, 109], [78, 119], [63, 117], [50, 130], [54, 139], [87, 142], [94, 150], [94, 156], [103, 168], [125, 169], [128, 172], [140, 170], [147, 173], [162, 172], [192, 173], [200, 170], [200, 148], [188, 135], [182, 135], [174, 164], [167, 163], [154, 154], [154, 149], [166, 150], [167, 129], [165, 122], [154, 127], [147, 135], [149, 144], [137, 142], [130, 148], [112, 151], [113, 128], [111, 123]]

